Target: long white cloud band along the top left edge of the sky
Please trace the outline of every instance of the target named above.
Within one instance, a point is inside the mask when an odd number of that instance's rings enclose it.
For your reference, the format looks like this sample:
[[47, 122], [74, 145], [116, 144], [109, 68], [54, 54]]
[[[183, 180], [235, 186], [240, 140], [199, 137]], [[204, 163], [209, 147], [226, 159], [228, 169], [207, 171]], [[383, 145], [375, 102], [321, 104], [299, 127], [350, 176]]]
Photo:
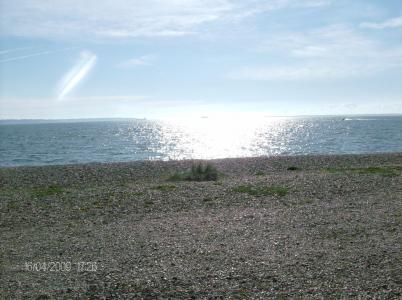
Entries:
[[46, 38], [171, 37], [210, 23], [269, 10], [317, 7], [325, 0], [13, 0], [2, 3], [0, 32]]

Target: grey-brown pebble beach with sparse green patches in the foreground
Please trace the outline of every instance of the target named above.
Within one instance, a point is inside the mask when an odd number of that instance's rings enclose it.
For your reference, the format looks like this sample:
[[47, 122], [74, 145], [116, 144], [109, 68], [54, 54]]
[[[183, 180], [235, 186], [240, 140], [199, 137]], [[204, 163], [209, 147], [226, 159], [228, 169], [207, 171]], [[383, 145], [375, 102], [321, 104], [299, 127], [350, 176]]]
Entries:
[[402, 153], [0, 168], [1, 299], [400, 299]]

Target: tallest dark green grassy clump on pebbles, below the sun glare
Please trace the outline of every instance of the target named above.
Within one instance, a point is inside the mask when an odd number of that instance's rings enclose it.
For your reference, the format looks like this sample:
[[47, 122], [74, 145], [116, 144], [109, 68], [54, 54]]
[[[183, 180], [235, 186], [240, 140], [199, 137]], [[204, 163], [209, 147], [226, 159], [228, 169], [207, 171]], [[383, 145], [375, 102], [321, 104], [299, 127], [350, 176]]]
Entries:
[[212, 164], [201, 163], [192, 165], [191, 169], [184, 172], [176, 172], [169, 180], [170, 181], [216, 181], [220, 173]]

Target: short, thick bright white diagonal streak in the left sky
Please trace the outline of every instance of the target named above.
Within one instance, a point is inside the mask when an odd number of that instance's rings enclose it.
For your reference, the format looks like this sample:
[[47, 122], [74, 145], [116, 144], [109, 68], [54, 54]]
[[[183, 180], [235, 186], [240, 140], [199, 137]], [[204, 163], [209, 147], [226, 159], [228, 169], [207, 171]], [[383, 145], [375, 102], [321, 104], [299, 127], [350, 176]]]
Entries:
[[85, 78], [89, 71], [94, 67], [96, 60], [97, 57], [95, 54], [88, 51], [81, 52], [79, 61], [60, 81], [59, 96], [57, 97], [58, 100], [62, 100], [82, 79]]

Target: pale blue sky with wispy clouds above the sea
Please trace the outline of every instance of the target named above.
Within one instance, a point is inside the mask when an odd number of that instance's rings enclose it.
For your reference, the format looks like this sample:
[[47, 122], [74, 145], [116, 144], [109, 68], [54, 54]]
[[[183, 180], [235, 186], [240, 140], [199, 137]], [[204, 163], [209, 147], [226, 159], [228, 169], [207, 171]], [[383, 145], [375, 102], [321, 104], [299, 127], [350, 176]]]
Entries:
[[402, 113], [401, 0], [0, 0], [0, 119]]

